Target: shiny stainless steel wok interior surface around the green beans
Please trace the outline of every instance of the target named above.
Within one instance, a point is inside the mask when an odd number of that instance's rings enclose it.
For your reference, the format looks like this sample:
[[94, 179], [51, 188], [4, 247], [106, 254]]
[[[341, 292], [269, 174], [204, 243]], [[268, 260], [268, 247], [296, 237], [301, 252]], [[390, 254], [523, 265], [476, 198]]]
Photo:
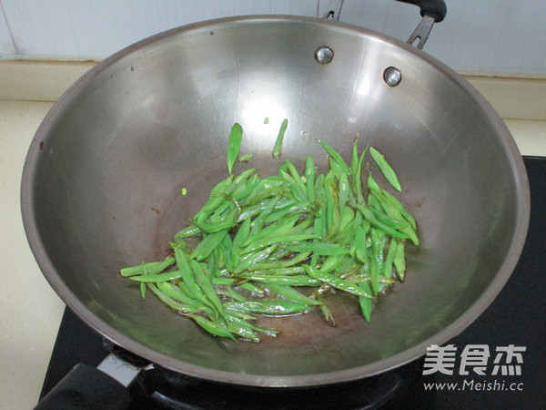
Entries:
[[[319, 46], [334, 50], [329, 65], [315, 61]], [[410, 360], [405, 352], [489, 292], [520, 207], [505, 129], [461, 80], [419, 53], [365, 30], [294, 18], [182, 28], [111, 57], [57, 103], [29, 153], [43, 247], [35, 253], [51, 263], [48, 280], [101, 333], [183, 373], [316, 384], [329, 381], [319, 374], [354, 377], [384, 370], [397, 355]], [[398, 87], [382, 80], [387, 67], [401, 71]], [[282, 118], [288, 130], [276, 160]], [[268, 320], [282, 330], [276, 340], [226, 342], [151, 293], [142, 302], [137, 285], [119, 276], [122, 267], [162, 259], [167, 241], [227, 177], [234, 122], [244, 128], [241, 153], [255, 154], [236, 171], [268, 175], [282, 159], [302, 169], [308, 155], [323, 170], [316, 139], [349, 158], [356, 136], [397, 170], [421, 246], [408, 247], [407, 280], [379, 298], [371, 323], [356, 300], [334, 295], [336, 328], [309, 313]], [[502, 285], [510, 272], [501, 274]]]

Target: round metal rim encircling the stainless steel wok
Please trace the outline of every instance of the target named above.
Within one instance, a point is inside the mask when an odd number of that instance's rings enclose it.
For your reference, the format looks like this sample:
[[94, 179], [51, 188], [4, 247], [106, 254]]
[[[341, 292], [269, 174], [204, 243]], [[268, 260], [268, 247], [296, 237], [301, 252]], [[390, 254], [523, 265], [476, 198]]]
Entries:
[[[392, 46], [398, 46], [405, 51], [424, 59], [428, 64], [440, 70], [441, 74], [450, 78], [451, 81], [457, 83], [466, 93], [470, 95], [479, 104], [483, 110], [485, 118], [490, 121], [490, 125], [498, 131], [500, 138], [498, 139], [504, 146], [504, 150], [508, 155], [508, 159], [512, 169], [512, 177], [514, 179], [515, 197], [516, 197], [516, 215], [517, 220], [514, 224], [514, 233], [511, 243], [508, 248], [507, 256], [501, 263], [501, 267], [489, 283], [487, 288], [480, 294], [478, 299], [462, 313], [457, 319], [442, 329], [439, 333], [435, 333], [430, 338], [418, 343], [409, 349], [406, 349], [399, 354], [395, 354], [386, 359], [364, 364], [357, 367], [352, 367], [345, 370], [335, 372], [319, 373], [319, 374], [297, 374], [297, 375], [259, 375], [259, 374], [236, 374], [227, 371], [203, 367], [197, 364], [189, 364], [182, 360], [174, 359], [167, 354], [161, 354], [154, 349], [147, 347], [144, 344], [138, 343], [135, 340], [120, 333], [115, 327], [106, 323], [96, 313], [88, 309], [76, 294], [70, 290], [45, 252], [45, 245], [40, 239], [39, 230], [37, 228], [34, 209], [34, 179], [39, 164], [40, 150], [39, 145], [47, 139], [50, 134], [50, 129], [56, 124], [58, 118], [62, 115], [64, 108], [75, 98], [81, 88], [86, 87], [91, 83], [107, 67], [112, 66], [118, 60], [125, 56], [138, 52], [141, 48], [155, 43], [169, 36], [177, 36], [183, 32], [210, 28], [218, 25], [226, 24], [261, 24], [261, 23], [286, 23], [292, 24], [303, 23], [306, 25], [317, 25], [334, 30], [350, 31], [358, 36], [372, 36], [383, 42], [387, 42]], [[521, 153], [511, 136], [510, 130], [506, 127], [504, 121], [499, 114], [491, 107], [490, 103], [481, 96], [480, 93], [470, 85], [463, 77], [444, 65], [436, 58], [426, 54], [425, 52], [410, 46], [396, 38], [384, 35], [382, 33], [364, 28], [361, 26], [349, 25], [332, 20], [320, 19], [317, 17], [296, 16], [296, 15], [248, 15], [217, 18], [203, 22], [194, 23], [187, 26], [179, 26], [170, 30], [158, 33], [154, 36], [149, 36], [143, 40], [136, 42], [131, 46], [126, 46], [112, 56], [108, 56], [96, 67], [91, 68], [82, 77], [69, 87], [66, 92], [58, 98], [54, 106], [45, 116], [44, 120], [37, 128], [35, 137], [32, 140], [28, 149], [23, 174], [21, 179], [21, 211], [23, 216], [23, 224], [27, 241], [31, 251], [35, 256], [35, 260], [43, 272], [45, 279], [55, 290], [57, 295], [66, 303], [76, 316], [78, 316], [86, 325], [100, 333], [112, 343], [125, 348], [126, 350], [142, 356], [161, 367], [175, 371], [180, 374], [206, 379], [214, 382], [227, 384], [241, 384], [249, 386], [262, 387], [310, 387], [324, 384], [337, 384], [358, 380], [369, 376], [381, 374], [389, 370], [393, 370], [408, 364], [411, 361], [419, 358], [426, 353], [426, 349], [431, 344], [441, 345], [448, 342], [451, 338], [461, 333], [481, 313], [483, 313], [496, 296], [501, 292], [502, 288], [511, 277], [511, 273], [516, 267], [520, 259], [521, 251], [527, 236], [530, 220], [531, 198], [529, 191], [529, 181], [527, 172], [521, 158]]]

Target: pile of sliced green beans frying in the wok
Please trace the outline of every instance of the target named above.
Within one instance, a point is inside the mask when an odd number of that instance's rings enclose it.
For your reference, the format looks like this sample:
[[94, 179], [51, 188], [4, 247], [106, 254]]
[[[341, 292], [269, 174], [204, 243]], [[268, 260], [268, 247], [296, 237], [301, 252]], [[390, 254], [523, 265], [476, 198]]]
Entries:
[[[207, 332], [231, 339], [275, 335], [254, 324], [258, 315], [319, 309], [335, 324], [327, 303], [335, 290], [354, 295], [369, 321], [380, 292], [404, 280], [405, 242], [419, 245], [414, 218], [373, 179], [367, 154], [400, 191], [394, 170], [377, 149], [359, 153], [355, 139], [350, 164], [319, 141], [328, 153], [327, 173], [318, 174], [308, 157], [302, 174], [285, 160], [277, 175], [261, 178], [248, 169], [236, 176], [242, 134], [234, 125], [229, 176], [169, 242], [167, 259], [121, 275], [140, 282], [143, 299], [149, 289]], [[188, 244], [191, 237], [200, 240], [197, 246]]]

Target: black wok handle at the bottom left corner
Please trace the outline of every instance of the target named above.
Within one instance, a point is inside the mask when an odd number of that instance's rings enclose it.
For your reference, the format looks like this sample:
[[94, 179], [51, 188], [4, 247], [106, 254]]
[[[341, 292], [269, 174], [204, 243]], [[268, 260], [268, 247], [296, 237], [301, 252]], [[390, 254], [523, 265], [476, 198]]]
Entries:
[[35, 410], [126, 410], [131, 405], [127, 388], [87, 364], [76, 364], [44, 396]]

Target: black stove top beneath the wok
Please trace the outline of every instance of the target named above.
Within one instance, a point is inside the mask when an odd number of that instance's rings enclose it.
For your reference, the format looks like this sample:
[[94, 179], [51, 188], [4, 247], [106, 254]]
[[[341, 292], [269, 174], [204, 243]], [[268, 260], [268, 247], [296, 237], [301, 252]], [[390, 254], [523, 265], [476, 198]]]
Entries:
[[[521, 259], [490, 307], [442, 346], [444, 356], [357, 382], [291, 390], [239, 388], [156, 368], [132, 384], [131, 409], [546, 408], [546, 159], [524, 162], [531, 224]], [[41, 396], [76, 364], [99, 364], [110, 348], [66, 309]]]

